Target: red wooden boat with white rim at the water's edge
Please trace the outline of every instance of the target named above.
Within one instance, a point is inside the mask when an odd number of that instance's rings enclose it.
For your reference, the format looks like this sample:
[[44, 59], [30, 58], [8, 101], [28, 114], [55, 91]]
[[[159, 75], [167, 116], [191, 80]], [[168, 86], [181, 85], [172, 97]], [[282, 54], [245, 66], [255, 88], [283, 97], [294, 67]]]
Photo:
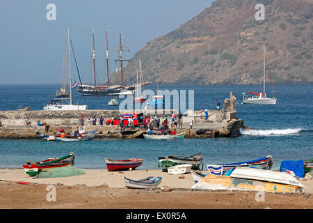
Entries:
[[128, 160], [110, 160], [104, 158], [108, 171], [119, 171], [126, 169], [135, 169], [143, 164], [143, 159], [128, 159]]

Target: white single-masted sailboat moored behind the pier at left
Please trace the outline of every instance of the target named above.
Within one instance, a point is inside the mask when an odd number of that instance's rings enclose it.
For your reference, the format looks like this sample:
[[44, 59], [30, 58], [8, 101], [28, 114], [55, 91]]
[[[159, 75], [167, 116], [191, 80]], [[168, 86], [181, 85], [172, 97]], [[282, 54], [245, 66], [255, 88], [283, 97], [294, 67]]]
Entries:
[[[50, 105], [43, 107], [47, 111], [72, 111], [72, 110], [86, 110], [87, 105], [72, 105], [72, 79], [71, 79], [71, 57], [70, 57], [70, 29], [68, 33], [68, 61], [69, 61], [69, 85], [70, 85], [70, 95], [66, 93], [57, 95], [54, 100], [51, 100]], [[63, 62], [64, 65], [64, 62]], [[68, 97], [70, 96], [70, 98]]]

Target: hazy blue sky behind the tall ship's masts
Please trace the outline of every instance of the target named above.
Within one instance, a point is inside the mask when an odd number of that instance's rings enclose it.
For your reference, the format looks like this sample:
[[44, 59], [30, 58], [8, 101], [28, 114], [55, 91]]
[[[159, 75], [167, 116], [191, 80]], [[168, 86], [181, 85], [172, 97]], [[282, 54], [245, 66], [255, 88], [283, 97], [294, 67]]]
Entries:
[[[147, 42], [166, 35], [211, 6], [213, 0], [3, 0], [0, 1], [0, 84], [59, 84], [63, 77], [63, 51], [68, 55], [67, 29], [83, 82], [92, 80], [92, 32], [95, 31], [97, 82], [106, 82], [106, 37], [109, 68], [118, 68], [115, 46], [122, 45], [131, 59]], [[56, 6], [55, 20], [47, 5]], [[72, 52], [71, 52], [72, 54]], [[68, 63], [68, 61], [67, 61]], [[72, 81], [78, 79], [71, 56]], [[68, 77], [68, 68], [67, 68]]]

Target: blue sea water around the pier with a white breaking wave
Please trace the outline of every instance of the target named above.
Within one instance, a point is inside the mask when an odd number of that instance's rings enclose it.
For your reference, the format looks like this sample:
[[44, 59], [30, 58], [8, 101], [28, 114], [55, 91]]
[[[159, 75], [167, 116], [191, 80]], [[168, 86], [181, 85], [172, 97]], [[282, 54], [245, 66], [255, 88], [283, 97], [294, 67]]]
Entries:
[[[40, 110], [51, 100], [59, 86], [53, 84], [0, 85], [0, 110], [14, 110], [28, 105]], [[253, 160], [272, 155], [273, 167], [282, 160], [313, 158], [313, 85], [277, 85], [277, 105], [242, 105], [242, 93], [261, 92], [261, 85], [244, 86], [158, 86], [170, 91], [194, 90], [194, 109], [215, 109], [216, 99], [223, 101], [232, 91], [237, 98], [237, 116], [253, 130], [240, 137], [214, 139], [95, 139], [82, 142], [56, 142], [24, 139], [0, 140], [0, 167], [22, 168], [26, 160], [38, 162], [48, 157], [75, 153], [77, 168], [106, 169], [104, 157], [111, 159], [143, 158], [138, 169], [158, 169], [159, 156], [193, 155], [201, 152], [204, 164], [223, 164]], [[157, 92], [157, 86], [146, 86]], [[266, 86], [268, 97], [273, 96]], [[188, 98], [188, 95], [187, 95]], [[113, 109], [109, 97], [83, 97], [73, 92], [73, 102], [88, 109]], [[120, 101], [122, 99], [119, 99]], [[223, 107], [223, 103], [222, 103]], [[114, 108], [116, 109], [116, 108]]]

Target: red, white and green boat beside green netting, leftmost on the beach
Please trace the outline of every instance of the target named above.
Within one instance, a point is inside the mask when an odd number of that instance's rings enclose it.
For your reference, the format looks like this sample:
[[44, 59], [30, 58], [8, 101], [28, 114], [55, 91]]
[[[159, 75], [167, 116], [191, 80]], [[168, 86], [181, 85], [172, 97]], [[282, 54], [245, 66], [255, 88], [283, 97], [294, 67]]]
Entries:
[[40, 162], [26, 161], [26, 165], [23, 165], [24, 171], [29, 176], [35, 176], [40, 171], [50, 171], [51, 169], [67, 167], [74, 165], [74, 153], [69, 153], [60, 158], [49, 158]]

